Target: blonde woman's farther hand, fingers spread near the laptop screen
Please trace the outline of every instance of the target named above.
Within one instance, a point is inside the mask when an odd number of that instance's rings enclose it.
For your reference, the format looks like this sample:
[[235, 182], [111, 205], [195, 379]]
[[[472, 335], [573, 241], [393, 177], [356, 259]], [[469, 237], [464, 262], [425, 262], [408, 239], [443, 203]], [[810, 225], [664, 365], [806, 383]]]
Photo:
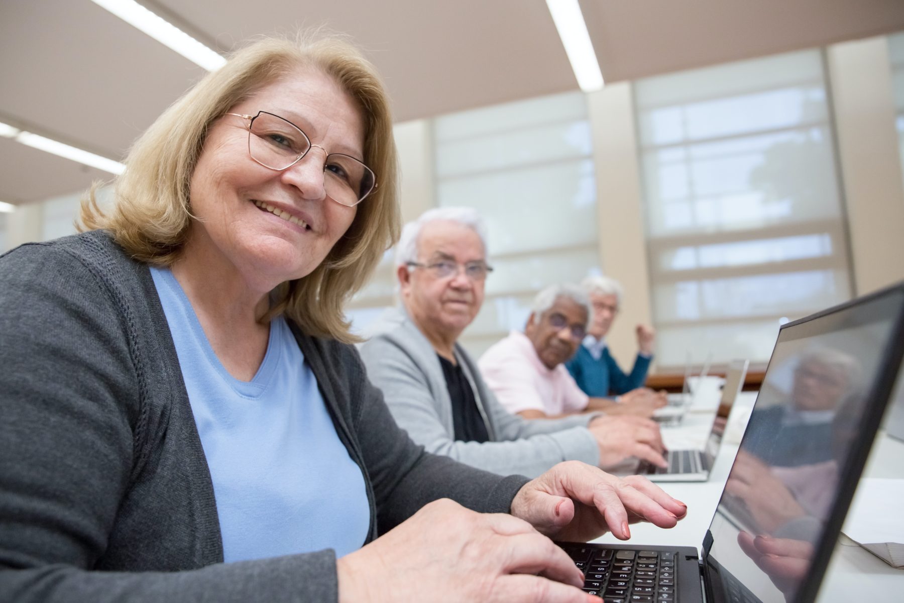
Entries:
[[610, 476], [578, 461], [552, 467], [523, 485], [512, 501], [515, 517], [548, 536], [575, 542], [607, 531], [627, 540], [628, 523], [671, 528], [685, 513], [687, 505], [643, 476]]

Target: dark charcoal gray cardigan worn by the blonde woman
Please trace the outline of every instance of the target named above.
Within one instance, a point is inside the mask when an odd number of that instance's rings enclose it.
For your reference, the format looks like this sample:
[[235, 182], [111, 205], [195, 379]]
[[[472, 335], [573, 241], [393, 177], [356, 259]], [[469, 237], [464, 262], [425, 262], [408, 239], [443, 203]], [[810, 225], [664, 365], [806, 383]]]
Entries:
[[[361, 467], [368, 542], [441, 497], [509, 510], [526, 478], [425, 453], [353, 346], [290, 325]], [[334, 551], [222, 562], [211, 475], [154, 281], [105, 232], [0, 257], [0, 367], [0, 601], [336, 600]]]

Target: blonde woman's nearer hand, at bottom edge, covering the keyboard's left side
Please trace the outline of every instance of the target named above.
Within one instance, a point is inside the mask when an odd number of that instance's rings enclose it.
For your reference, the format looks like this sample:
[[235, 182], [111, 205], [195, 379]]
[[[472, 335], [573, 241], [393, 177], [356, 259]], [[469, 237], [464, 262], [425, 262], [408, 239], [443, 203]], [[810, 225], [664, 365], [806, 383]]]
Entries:
[[336, 563], [340, 603], [420, 601], [599, 601], [580, 590], [583, 574], [530, 523], [468, 511], [450, 500]]

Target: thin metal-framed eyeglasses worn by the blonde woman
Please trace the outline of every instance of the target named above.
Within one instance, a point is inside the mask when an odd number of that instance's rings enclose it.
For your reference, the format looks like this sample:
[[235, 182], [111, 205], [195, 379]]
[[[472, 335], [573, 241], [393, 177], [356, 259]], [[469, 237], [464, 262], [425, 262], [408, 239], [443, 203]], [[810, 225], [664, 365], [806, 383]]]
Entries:
[[[248, 120], [248, 152], [251, 159], [271, 170], [282, 172], [301, 161], [312, 147], [311, 139], [291, 121], [267, 111], [255, 116], [227, 113]], [[326, 155], [324, 189], [336, 203], [354, 207], [377, 187], [371, 168], [353, 156]]]

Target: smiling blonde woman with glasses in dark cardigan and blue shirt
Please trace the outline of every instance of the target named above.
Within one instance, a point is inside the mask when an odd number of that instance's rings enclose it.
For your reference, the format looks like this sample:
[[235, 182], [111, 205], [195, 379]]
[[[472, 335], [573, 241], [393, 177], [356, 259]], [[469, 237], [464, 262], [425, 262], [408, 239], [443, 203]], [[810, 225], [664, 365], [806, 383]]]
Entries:
[[388, 105], [348, 42], [256, 42], [137, 141], [86, 231], [0, 259], [0, 600], [583, 601], [543, 534], [683, 515], [392, 421], [342, 313], [398, 235]]

